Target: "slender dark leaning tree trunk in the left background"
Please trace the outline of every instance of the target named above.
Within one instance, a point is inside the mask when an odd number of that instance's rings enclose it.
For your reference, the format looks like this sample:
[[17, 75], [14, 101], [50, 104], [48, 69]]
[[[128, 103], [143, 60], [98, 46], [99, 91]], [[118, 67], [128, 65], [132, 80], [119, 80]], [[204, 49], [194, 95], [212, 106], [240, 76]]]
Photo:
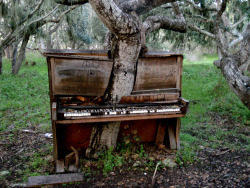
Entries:
[[[22, 45], [21, 45], [21, 48], [20, 48], [20, 52], [19, 52], [19, 55], [18, 55], [18, 59], [13, 61], [14, 63], [12, 64], [12, 66], [13, 66], [12, 67], [12, 74], [14, 74], [14, 75], [18, 74], [18, 72], [19, 72], [19, 70], [21, 68], [22, 62], [25, 59], [26, 46], [27, 46], [27, 44], [29, 42], [29, 38], [30, 38], [29, 34], [24, 35]], [[15, 56], [15, 58], [16, 58], [16, 56]]]

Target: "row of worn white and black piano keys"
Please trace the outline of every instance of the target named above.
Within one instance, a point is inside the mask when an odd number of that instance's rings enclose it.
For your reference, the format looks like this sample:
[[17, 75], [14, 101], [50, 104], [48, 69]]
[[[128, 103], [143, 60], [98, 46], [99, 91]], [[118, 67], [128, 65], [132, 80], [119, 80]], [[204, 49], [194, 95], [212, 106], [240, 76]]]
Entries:
[[79, 118], [87, 116], [105, 116], [105, 115], [125, 115], [125, 114], [154, 114], [154, 113], [169, 113], [181, 112], [181, 107], [178, 105], [166, 106], [145, 106], [145, 107], [127, 107], [127, 108], [104, 108], [104, 109], [64, 109], [64, 118]]

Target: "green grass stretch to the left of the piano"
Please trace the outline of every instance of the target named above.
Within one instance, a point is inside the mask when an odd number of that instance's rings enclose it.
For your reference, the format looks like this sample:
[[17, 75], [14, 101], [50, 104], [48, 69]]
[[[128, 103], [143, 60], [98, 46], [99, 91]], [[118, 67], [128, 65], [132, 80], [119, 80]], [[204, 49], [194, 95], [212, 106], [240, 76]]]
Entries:
[[11, 72], [11, 61], [4, 59], [0, 75], [0, 131], [24, 128], [48, 130], [50, 127], [48, 73], [46, 59], [27, 53], [29, 63], [18, 75]]

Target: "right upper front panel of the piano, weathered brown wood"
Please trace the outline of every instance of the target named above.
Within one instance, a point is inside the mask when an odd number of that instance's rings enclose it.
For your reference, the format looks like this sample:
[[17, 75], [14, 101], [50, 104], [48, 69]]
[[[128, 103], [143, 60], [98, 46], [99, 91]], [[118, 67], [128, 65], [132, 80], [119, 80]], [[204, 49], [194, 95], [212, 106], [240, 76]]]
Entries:
[[177, 82], [180, 81], [180, 64], [177, 57], [140, 58], [133, 90], [176, 88]]

